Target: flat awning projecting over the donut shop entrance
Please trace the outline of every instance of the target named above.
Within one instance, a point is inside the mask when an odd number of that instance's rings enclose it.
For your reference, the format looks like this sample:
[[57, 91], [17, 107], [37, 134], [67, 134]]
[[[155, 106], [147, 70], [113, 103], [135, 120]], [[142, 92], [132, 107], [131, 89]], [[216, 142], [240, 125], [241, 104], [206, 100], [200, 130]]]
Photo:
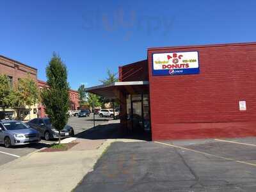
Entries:
[[107, 99], [116, 99], [120, 92], [141, 93], [148, 90], [148, 81], [125, 81], [115, 82], [109, 85], [99, 85], [86, 88], [86, 92], [101, 95]]

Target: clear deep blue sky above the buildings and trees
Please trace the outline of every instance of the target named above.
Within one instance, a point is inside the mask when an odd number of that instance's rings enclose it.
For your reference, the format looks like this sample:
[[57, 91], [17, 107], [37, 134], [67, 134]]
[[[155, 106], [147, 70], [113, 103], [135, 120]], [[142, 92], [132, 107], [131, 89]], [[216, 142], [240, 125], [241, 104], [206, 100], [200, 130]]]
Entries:
[[256, 1], [0, 0], [0, 54], [38, 68], [52, 52], [70, 87], [94, 86], [148, 47], [255, 41]]

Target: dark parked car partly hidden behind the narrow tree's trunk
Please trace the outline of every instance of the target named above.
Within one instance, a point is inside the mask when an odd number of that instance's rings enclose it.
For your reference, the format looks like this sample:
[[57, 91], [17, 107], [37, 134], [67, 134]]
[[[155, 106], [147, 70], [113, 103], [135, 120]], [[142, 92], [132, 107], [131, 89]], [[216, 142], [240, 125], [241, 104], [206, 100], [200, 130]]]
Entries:
[[[41, 137], [44, 137], [45, 140], [51, 140], [53, 138], [59, 138], [59, 131], [54, 129], [51, 124], [50, 118], [34, 118], [27, 123], [33, 129], [36, 129]], [[63, 130], [60, 132], [61, 138], [67, 138], [74, 136], [74, 129], [69, 125], [66, 125]]]

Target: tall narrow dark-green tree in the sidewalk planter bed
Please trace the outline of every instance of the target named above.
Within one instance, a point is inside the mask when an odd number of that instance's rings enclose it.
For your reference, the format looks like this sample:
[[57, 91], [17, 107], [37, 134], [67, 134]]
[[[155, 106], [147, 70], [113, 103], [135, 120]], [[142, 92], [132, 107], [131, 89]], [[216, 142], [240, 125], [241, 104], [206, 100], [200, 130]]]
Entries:
[[49, 88], [44, 88], [42, 91], [42, 103], [52, 126], [59, 132], [60, 144], [60, 132], [68, 122], [69, 87], [67, 67], [55, 53], [46, 68], [46, 76]]

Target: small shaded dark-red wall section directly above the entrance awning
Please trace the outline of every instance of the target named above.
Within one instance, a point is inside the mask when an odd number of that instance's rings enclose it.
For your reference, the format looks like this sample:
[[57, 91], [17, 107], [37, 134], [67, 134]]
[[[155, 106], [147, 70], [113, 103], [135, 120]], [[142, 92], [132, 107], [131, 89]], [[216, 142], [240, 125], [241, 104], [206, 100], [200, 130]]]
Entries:
[[119, 81], [148, 81], [147, 60], [119, 67]]

